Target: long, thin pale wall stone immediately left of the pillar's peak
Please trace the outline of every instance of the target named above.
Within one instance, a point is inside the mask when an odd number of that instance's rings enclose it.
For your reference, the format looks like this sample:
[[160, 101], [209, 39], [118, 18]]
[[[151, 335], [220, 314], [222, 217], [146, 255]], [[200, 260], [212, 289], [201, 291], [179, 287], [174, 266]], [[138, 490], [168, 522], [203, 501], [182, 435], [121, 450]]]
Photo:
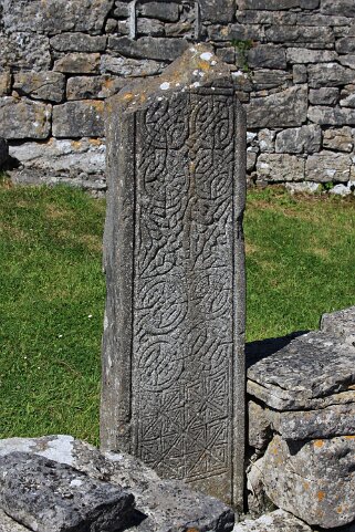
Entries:
[[108, 54], [101, 58], [101, 71], [103, 73], [111, 72], [127, 77], [145, 77], [159, 74], [164, 66], [165, 63], [158, 63], [157, 61], [138, 61], [136, 59], [114, 58]]

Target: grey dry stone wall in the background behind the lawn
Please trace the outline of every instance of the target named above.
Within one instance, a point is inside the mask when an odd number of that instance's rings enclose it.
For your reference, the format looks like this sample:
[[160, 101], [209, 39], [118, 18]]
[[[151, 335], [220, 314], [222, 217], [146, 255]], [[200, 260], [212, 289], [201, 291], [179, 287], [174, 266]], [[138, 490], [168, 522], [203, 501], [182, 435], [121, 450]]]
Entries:
[[104, 100], [197, 41], [234, 69], [251, 181], [351, 192], [352, 0], [0, 0], [0, 137], [13, 178], [104, 189]]

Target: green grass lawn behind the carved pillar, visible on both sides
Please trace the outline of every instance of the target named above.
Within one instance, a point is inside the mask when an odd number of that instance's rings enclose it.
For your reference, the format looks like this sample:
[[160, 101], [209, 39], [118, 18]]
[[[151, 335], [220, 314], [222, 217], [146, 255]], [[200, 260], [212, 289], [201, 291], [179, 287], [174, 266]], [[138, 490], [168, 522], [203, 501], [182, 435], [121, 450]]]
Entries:
[[[105, 205], [0, 186], [0, 438], [98, 441]], [[248, 340], [315, 328], [355, 304], [355, 201], [249, 194]]]

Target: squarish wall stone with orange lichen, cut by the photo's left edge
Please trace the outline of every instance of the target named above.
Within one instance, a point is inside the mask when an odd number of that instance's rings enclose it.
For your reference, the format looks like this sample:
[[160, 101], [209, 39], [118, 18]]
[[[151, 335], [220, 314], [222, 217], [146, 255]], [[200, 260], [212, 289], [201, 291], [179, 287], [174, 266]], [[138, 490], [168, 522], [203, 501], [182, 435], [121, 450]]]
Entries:
[[52, 106], [11, 96], [0, 98], [0, 136], [10, 139], [48, 138]]

